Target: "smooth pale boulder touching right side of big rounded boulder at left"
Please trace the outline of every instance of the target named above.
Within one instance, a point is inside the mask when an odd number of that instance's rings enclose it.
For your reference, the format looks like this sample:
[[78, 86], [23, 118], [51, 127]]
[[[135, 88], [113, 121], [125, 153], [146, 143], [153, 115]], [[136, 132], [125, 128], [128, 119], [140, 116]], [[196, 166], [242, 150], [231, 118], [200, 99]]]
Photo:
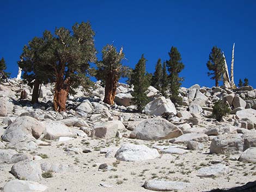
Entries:
[[46, 119], [42, 121], [46, 128], [45, 139], [58, 139], [59, 137], [76, 137], [77, 133], [74, 129], [69, 128], [62, 122], [53, 121], [51, 119]]

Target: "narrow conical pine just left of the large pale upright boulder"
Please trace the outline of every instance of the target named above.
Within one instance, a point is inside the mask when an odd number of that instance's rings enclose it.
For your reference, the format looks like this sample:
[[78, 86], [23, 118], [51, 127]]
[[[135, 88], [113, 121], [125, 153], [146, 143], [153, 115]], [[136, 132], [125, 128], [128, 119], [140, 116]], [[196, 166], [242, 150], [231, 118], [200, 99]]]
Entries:
[[130, 85], [133, 85], [132, 103], [136, 104], [139, 112], [142, 112], [149, 101], [147, 94], [145, 94], [150, 85], [149, 75], [146, 73], [146, 61], [142, 54], [141, 59], [139, 59], [135, 69], [132, 71], [130, 79]]

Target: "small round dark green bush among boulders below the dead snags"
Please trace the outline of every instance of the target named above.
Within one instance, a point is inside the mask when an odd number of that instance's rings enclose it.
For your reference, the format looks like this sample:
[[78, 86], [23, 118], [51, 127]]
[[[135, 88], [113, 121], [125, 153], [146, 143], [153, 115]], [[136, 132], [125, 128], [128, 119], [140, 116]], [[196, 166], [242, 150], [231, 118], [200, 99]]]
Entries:
[[222, 121], [222, 117], [229, 113], [230, 109], [227, 103], [222, 100], [214, 103], [212, 117], [214, 117], [217, 121]]

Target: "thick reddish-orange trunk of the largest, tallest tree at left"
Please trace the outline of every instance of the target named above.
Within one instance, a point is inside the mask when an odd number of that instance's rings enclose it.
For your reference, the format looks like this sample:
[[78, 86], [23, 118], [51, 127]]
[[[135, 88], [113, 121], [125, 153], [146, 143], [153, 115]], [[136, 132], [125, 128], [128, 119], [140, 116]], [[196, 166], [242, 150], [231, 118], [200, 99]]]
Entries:
[[70, 80], [63, 79], [63, 74], [57, 76], [53, 95], [53, 108], [58, 112], [65, 112], [66, 100], [69, 95]]

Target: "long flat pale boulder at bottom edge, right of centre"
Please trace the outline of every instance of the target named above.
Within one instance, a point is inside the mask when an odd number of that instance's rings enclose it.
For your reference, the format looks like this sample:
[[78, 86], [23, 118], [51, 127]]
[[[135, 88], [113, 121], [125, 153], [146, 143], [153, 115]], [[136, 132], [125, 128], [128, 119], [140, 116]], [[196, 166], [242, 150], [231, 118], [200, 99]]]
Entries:
[[145, 189], [153, 191], [175, 191], [184, 189], [188, 183], [182, 181], [164, 181], [158, 179], [151, 179], [146, 181], [143, 185]]

